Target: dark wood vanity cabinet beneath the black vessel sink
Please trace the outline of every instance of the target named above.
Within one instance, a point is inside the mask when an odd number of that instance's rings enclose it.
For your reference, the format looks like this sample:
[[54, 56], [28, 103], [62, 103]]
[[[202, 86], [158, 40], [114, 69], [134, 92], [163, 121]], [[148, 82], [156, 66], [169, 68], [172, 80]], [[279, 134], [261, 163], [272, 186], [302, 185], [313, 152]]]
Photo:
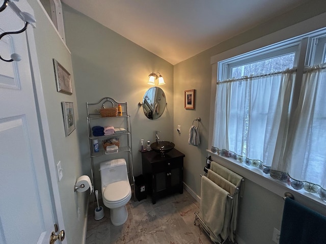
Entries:
[[142, 153], [143, 175], [153, 204], [167, 194], [183, 193], [183, 158], [175, 148], [164, 156], [155, 151]]

